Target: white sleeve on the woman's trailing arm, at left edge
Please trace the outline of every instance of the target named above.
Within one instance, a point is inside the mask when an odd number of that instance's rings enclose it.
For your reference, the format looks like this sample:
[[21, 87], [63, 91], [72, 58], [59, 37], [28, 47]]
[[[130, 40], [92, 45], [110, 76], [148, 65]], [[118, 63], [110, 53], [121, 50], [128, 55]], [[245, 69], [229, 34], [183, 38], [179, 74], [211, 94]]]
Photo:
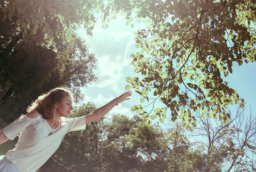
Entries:
[[35, 119], [36, 118], [29, 118], [25, 115], [20, 115], [20, 117], [14, 120], [11, 124], [4, 127], [2, 132], [8, 139], [13, 140], [20, 132], [31, 125]]

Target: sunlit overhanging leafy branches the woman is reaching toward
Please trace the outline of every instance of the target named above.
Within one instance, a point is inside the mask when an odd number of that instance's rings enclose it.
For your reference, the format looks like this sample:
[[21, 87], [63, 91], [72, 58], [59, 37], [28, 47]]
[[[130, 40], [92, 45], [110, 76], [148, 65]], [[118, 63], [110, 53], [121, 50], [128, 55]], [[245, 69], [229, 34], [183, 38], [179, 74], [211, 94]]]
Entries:
[[[213, 115], [228, 122], [230, 104], [244, 107], [244, 100], [223, 76], [232, 73], [234, 62], [255, 62], [254, 1], [114, 3], [115, 9], [133, 8], [136, 20], [148, 24], [136, 32], [140, 51], [131, 54], [134, 71], [141, 77], [127, 77], [126, 89], [135, 89], [141, 103], [147, 100], [152, 109], [137, 104], [133, 111], [146, 119], [159, 117], [161, 122], [170, 111], [173, 121], [180, 118], [192, 130], [198, 111], [202, 118]], [[129, 13], [126, 18], [134, 20]], [[155, 108], [158, 100], [162, 108]]]

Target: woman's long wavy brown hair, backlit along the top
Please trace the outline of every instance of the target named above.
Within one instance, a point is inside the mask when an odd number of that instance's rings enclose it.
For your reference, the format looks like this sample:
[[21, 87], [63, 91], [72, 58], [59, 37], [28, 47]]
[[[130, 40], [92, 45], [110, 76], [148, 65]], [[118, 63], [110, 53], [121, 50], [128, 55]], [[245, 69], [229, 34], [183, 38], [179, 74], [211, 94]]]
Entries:
[[72, 97], [72, 94], [68, 89], [63, 87], [52, 89], [33, 101], [27, 108], [27, 111], [29, 113], [30, 111], [37, 110], [43, 118], [52, 118], [54, 106], [56, 103], [60, 103], [65, 96]]

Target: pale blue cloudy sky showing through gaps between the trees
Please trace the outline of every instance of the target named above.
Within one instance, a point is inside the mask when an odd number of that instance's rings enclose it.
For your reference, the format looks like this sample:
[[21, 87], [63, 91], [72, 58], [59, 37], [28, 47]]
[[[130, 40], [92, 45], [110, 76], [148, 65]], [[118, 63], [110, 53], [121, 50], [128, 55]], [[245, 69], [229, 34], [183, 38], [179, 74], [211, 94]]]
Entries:
[[[141, 24], [132, 28], [126, 25], [122, 16], [118, 15], [116, 20], [109, 22], [108, 29], [102, 29], [102, 24], [97, 22], [92, 36], [88, 36], [84, 29], [79, 29], [79, 36], [86, 40], [90, 52], [95, 54], [97, 59], [97, 69], [94, 71], [97, 81], [82, 88], [85, 103], [92, 102], [99, 108], [126, 91], [125, 78], [135, 76], [131, 65], [132, 59], [129, 57], [130, 54], [138, 52], [135, 48], [134, 32], [143, 27], [145, 25]], [[223, 78], [232, 89], [237, 90], [244, 98], [248, 109], [254, 113], [256, 113], [255, 74], [255, 63], [241, 66], [234, 64], [233, 73]], [[108, 114], [132, 117], [136, 114], [131, 111], [134, 104], [140, 104], [140, 96], [136, 92], [132, 92], [131, 99], [118, 104]]]

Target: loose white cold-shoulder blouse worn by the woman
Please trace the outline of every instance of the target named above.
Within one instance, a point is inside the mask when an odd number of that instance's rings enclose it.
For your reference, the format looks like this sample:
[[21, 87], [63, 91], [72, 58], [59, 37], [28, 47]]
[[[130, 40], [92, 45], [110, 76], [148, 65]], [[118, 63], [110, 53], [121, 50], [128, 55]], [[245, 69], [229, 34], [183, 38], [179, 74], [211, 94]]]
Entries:
[[52, 129], [42, 115], [36, 118], [21, 115], [2, 130], [10, 140], [20, 133], [15, 148], [6, 152], [5, 157], [22, 172], [36, 171], [60, 147], [65, 134], [85, 129], [85, 122], [85, 116], [61, 118], [59, 127]]

